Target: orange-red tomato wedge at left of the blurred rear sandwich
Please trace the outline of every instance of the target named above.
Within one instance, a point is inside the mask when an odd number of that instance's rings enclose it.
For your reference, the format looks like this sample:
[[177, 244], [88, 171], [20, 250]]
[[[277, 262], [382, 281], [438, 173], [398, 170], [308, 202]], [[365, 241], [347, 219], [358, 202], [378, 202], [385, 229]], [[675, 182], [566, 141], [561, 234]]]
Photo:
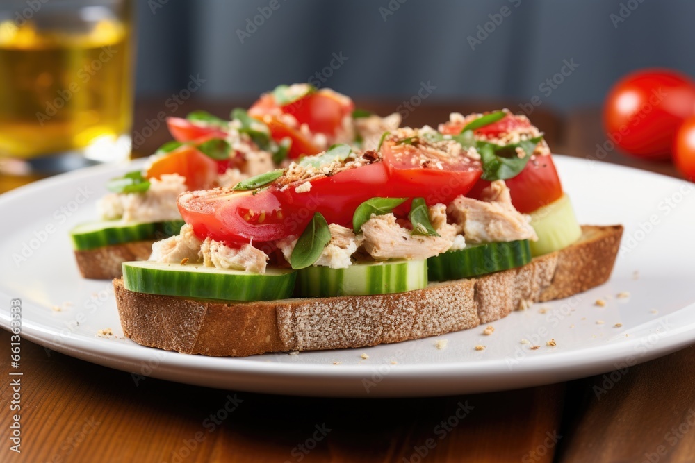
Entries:
[[156, 158], [147, 169], [147, 178], [161, 178], [162, 174], [179, 174], [186, 177], [186, 186], [201, 190], [213, 185], [218, 177], [218, 162], [204, 155], [195, 146], [185, 144], [171, 153]]

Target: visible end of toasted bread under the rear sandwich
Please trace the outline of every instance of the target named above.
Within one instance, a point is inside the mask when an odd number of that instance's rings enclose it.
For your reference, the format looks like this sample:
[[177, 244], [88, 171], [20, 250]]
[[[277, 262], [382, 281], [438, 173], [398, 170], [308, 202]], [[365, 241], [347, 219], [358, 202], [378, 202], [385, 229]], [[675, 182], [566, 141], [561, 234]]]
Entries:
[[154, 239], [113, 244], [88, 251], [75, 251], [75, 260], [83, 278], [111, 280], [123, 274], [121, 264], [131, 260], [147, 260], [152, 254]]

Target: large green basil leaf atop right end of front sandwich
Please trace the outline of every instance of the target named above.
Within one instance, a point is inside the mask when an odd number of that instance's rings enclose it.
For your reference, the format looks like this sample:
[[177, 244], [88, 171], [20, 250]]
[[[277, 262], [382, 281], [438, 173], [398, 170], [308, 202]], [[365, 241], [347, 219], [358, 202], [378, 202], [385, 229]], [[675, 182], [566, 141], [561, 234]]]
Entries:
[[[514, 144], [499, 146], [488, 142], [477, 142], [477, 151], [482, 162], [483, 180], [506, 180], [517, 176], [528, 163], [536, 145], [543, 137], [535, 137]], [[516, 149], [523, 149], [525, 156], [519, 158]]]

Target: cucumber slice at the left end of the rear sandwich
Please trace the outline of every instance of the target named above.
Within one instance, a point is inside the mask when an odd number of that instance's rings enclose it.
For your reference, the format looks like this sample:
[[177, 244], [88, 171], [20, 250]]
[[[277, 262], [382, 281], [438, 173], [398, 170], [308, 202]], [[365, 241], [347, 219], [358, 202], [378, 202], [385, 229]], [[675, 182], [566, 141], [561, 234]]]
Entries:
[[152, 224], [132, 224], [122, 220], [96, 221], [76, 226], [70, 230], [70, 236], [74, 249], [88, 251], [113, 244], [142, 241], [143, 239], [163, 239], [178, 235], [183, 223], [183, 220]]

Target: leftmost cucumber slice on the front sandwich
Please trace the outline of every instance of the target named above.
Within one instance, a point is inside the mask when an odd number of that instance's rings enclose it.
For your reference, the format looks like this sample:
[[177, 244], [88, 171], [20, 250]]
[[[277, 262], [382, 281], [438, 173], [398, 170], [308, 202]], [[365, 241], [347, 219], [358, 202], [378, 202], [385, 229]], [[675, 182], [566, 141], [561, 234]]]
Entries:
[[252, 273], [201, 264], [123, 263], [126, 289], [186, 298], [273, 301], [291, 297], [296, 278], [291, 269], [266, 269], [265, 273]]

